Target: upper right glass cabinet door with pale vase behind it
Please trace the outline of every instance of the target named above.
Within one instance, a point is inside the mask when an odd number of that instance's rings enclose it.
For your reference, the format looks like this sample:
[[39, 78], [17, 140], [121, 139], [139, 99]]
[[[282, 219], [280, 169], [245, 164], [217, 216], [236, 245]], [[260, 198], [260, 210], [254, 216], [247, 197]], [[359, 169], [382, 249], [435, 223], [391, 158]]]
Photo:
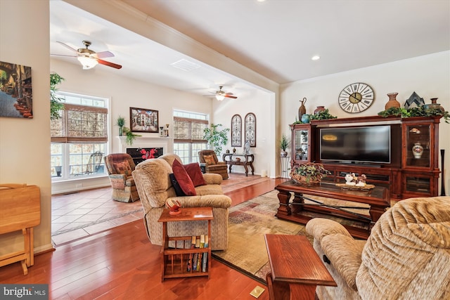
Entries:
[[431, 124], [405, 124], [404, 168], [430, 168]]

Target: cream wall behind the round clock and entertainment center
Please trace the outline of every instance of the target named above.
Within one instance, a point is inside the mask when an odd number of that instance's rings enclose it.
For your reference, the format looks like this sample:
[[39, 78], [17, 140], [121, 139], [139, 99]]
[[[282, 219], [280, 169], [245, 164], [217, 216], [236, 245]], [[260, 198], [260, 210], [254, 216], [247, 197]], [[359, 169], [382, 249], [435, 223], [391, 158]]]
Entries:
[[[375, 100], [371, 107], [358, 114], [344, 112], [338, 105], [340, 91], [353, 82], [364, 82], [375, 91]], [[282, 132], [289, 133], [288, 124], [295, 122], [300, 106], [299, 100], [304, 97], [307, 98], [305, 106], [309, 114], [316, 106], [325, 105], [332, 115], [339, 118], [364, 117], [377, 115], [378, 112], [385, 110], [387, 93], [399, 93], [397, 100], [403, 105], [414, 91], [425, 100], [425, 103], [431, 103], [430, 98], [437, 97], [439, 98], [437, 102], [445, 110], [450, 110], [450, 51], [284, 84], [280, 91], [281, 128], [285, 129]], [[449, 195], [450, 190], [449, 132], [450, 124], [441, 121], [439, 149], [444, 149], [446, 154], [444, 159], [446, 195]]]

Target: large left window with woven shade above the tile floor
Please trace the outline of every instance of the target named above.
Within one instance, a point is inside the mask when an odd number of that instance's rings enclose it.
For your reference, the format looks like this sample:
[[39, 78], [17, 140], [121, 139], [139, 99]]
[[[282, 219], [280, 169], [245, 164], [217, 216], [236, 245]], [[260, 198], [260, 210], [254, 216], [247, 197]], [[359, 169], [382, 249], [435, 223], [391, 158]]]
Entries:
[[53, 180], [105, 174], [108, 150], [108, 99], [57, 92], [64, 103], [51, 121]]

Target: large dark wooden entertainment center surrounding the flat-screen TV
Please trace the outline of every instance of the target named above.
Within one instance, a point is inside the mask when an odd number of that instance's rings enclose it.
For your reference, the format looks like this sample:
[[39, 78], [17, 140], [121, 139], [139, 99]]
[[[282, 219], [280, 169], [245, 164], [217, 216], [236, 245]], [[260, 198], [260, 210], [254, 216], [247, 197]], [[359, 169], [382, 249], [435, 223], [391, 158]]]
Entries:
[[[438, 195], [439, 179], [439, 122], [440, 117], [355, 117], [313, 120], [310, 124], [291, 124], [291, 168], [307, 162], [320, 162], [331, 172], [326, 182], [344, 183], [345, 175], [365, 174], [367, 183], [383, 186], [390, 198]], [[321, 134], [323, 128], [390, 126], [390, 162], [350, 162], [321, 160]], [[422, 151], [414, 151], [419, 145]], [[369, 157], [368, 161], [371, 160]]]

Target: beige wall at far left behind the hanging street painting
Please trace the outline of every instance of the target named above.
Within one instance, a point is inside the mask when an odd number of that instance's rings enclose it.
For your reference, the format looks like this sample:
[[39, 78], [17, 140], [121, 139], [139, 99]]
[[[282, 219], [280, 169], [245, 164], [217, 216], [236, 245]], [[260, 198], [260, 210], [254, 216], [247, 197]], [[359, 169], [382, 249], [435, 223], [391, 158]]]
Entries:
[[[41, 224], [34, 229], [39, 252], [52, 247], [49, 1], [1, 0], [0, 22], [0, 60], [32, 67], [34, 115], [33, 119], [0, 117], [0, 183], [39, 186]], [[0, 256], [22, 244], [19, 233], [1, 235]]]

